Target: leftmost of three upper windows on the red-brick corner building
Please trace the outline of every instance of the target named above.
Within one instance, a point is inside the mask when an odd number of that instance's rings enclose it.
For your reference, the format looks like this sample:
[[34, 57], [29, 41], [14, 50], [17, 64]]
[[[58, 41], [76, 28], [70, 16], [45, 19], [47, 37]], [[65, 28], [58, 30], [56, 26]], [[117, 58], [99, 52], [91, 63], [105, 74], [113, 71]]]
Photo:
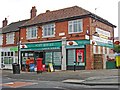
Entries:
[[37, 27], [27, 28], [27, 39], [36, 39], [37, 38]]

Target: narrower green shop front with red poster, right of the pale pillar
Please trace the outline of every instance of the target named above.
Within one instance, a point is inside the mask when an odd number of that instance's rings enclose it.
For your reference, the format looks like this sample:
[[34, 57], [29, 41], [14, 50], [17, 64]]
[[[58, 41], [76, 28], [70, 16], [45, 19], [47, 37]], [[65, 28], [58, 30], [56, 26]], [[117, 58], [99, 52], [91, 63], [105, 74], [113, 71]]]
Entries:
[[67, 41], [67, 70], [84, 70], [86, 65], [86, 44], [89, 40]]

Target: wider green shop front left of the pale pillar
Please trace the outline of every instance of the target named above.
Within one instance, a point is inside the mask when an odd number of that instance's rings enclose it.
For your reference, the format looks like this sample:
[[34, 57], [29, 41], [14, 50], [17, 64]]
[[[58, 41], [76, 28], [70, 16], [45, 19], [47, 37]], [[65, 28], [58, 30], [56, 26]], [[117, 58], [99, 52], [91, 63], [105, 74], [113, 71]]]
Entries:
[[[42, 58], [42, 64], [52, 63], [54, 69], [61, 69], [61, 42], [43, 42], [24, 44], [25, 48], [21, 48], [21, 66], [26, 64], [26, 60], [34, 60], [36, 66], [37, 58]], [[23, 67], [21, 67], [22, 69]]]

